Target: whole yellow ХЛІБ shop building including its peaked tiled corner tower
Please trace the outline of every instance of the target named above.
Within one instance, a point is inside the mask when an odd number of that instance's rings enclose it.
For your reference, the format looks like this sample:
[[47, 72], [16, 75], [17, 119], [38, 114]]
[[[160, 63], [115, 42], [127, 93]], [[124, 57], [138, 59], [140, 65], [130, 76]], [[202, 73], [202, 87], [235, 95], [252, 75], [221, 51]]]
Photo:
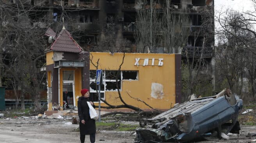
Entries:
[[83, 88], [97, 106], [96, 66], [103, 70], [101, 100], [110, 105], [123, 105], [118, 89], [125, 103], [142, 110], [166, 110], [181, 100], [180, 54], [84, 52], [63, 29], [46, 51], [48, 110], [77, 106]]

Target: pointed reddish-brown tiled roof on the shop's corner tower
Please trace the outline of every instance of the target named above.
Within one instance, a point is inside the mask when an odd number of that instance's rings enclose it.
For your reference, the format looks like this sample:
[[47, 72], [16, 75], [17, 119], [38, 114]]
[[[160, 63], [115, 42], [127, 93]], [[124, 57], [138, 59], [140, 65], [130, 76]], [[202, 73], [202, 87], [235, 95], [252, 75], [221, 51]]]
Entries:
[[53, 51], [62, 51], [62, 52], [81, 52], [82, 48], [76, 43], [72, 38], [71, 34], [63, 28], [59, 36], [53, 42], [50, 47]]

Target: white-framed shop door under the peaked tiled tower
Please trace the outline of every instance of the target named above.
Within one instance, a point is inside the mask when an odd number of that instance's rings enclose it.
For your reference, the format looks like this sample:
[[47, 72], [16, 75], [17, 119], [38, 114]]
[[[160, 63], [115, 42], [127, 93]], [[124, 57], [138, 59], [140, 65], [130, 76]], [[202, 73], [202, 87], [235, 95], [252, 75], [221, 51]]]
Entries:
[[63, 109], [73, 109], [75, 105], [74, 81], [63, 81]]

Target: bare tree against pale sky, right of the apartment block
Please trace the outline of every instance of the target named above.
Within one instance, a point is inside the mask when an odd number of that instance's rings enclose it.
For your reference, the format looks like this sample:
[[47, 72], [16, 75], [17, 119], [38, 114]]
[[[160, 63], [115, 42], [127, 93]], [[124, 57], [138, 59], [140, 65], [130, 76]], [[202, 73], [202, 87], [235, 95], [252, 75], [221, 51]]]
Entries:
[[[252, 0], [254, 5], [256, 4]], [[242, 86], [238, 85], [244, 77], [249, 79], [252, 96], [255, 95], [256, 66], [255, 59], [256, 30], [254, 28], [255, 11], [238, 12], [232, 9], [219, 11], [216, 21], [220, 25], [218, 29], [220, 57], [220, 68], [226, 68], [224, 75], [228, 80], [232, 91], [241, 92]], [[241, 84], [243, 85], [243, 84]]]

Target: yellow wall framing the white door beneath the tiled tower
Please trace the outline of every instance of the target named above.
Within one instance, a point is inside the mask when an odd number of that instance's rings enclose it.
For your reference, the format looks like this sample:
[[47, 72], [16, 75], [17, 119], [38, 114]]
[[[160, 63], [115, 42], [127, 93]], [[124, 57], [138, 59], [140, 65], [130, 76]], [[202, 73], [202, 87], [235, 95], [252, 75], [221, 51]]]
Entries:
[[63, 71], [75, 71], [75, 106], [77, 106], [77, 100], [80, 96], [80, 91], [82, 89], [82, 75], [81, 68], [60, 68], [60, 106], [63, 106], [63, 88], [62, 88], [62, 77]]

